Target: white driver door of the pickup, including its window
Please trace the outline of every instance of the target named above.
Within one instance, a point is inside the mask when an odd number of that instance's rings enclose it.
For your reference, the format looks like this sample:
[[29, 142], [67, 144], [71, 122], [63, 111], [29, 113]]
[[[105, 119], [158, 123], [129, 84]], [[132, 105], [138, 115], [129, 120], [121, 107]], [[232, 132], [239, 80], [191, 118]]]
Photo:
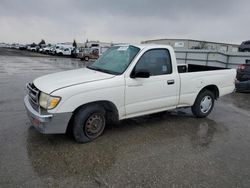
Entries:
[[[178, 74], [173, 73], [167, 49], [146, 51], [131, 74], [147, 71], [149, 78], [125, 78], [126, 116], [161, 111], [175, 107], [178, 99]], [[133, 77], [133, 76], [132, 76]]]

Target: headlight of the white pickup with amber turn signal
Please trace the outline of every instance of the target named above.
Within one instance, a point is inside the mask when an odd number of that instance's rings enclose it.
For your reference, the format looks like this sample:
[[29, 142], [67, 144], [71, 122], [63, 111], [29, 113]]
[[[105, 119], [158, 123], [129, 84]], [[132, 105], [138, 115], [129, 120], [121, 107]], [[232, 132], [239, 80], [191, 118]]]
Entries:
[[39, 97], [39, 104], [44, 109], [51, 110], [58, 105], [60, 100], [61, 100], [60, 97], [50, 96], [46, 93], [41, 92]]

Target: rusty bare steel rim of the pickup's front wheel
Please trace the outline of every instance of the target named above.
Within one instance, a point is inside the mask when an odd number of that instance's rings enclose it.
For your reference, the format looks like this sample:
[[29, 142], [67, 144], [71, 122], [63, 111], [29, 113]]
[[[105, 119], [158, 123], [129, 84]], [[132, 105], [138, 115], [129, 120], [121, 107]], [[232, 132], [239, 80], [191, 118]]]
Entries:
[[105, 119], [100, 113], [92, 114], [85, 123], [86, 136], [93, 139], [98, 137], [104, 129]]

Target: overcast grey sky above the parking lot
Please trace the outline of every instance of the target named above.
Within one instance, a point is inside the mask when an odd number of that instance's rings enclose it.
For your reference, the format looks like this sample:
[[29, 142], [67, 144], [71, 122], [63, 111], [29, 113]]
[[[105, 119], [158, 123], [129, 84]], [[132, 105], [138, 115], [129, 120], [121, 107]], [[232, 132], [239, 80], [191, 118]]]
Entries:
[[249, 0], [0, 0], [0, 42], [250, 40]]

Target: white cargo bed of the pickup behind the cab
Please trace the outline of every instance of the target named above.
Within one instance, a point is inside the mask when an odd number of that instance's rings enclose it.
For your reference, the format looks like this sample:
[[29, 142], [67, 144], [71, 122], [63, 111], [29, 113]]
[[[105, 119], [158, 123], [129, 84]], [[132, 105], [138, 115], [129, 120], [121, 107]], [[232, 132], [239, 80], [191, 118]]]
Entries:
[[206, 86], [216, 86], [218, 97], [234, 90], [236, 70], [202, 65], [179, 65], [180, 99], [178, 107], [192, 106], [200, 90]]

